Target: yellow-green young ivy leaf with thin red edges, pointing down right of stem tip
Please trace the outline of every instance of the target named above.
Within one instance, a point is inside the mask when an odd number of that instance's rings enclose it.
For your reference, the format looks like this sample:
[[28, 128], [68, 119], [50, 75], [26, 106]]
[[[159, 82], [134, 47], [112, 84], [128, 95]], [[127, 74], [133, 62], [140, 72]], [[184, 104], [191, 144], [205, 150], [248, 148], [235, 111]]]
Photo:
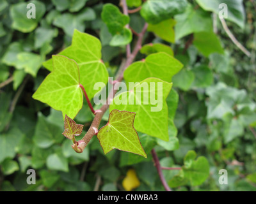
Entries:
[[102, 127], [97, 134], [104, 154], [118, 149], [147, 158], [147, 154], [141, 147], [138, 133], [133, 127], [135, 115], [136, 113], [127, 111], [111, 111], [108, 124]]

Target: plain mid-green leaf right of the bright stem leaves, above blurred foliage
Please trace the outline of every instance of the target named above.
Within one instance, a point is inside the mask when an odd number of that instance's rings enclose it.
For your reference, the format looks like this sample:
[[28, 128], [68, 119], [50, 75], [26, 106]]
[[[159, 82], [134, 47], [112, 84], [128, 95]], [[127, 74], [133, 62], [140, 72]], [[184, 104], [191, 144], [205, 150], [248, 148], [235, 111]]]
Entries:
[[195, 33], [193, 44], [205, 57], [214, 52], [224, 54], [220, 39], [213, 32]]

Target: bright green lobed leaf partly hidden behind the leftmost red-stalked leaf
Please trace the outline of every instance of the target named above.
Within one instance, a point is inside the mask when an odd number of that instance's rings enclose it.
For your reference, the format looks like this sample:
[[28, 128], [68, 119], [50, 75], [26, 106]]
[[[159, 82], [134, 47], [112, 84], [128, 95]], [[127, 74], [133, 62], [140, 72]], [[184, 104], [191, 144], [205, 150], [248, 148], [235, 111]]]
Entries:
[[[90, 34], [74, 31], [72, 45], [59, 53], [70, 59], [74, 59], [79, 66], [80, 83], [83, 85], [88, 98], [100, 90], [94, 90], [97, 82], [108, 82], [108, 71], [101, 61], [101, 45], [99, 39]], [[44, 62], [45, 68], [52, 71], [52, 59]], [[68, 115], [68, 114], [67, 114]], [[72, 116], [69, 114], [72, 118]]]

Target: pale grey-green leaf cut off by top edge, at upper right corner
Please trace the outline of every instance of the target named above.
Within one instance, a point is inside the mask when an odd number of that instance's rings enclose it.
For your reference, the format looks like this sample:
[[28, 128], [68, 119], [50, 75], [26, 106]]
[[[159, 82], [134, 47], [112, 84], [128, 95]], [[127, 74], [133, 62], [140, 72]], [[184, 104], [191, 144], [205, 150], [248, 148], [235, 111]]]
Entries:
[[227, 4], [228, 20], [236, 23], [244, 29], [245, 11], [243, 6], [243, 0], [196, 0], [196, 2], [204, 8], [206, 11], [212, 11], [219, 15], [222, 8], [219, 8], [220, 4]]

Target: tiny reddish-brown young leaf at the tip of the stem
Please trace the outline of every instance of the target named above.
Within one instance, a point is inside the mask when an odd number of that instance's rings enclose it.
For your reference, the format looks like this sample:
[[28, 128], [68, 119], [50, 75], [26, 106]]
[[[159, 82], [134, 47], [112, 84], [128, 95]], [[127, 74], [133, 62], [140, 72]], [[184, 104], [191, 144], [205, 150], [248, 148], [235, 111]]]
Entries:
[[76, 122], [67, 115], [65, 115], [65, 120], [64, 120], [64, 132], [62, 135], [67, 137], [68, 139], [72, 140], [74, 136], [79, 136], [81, 135], [84, 126], [81, 124], [76, 124]]

